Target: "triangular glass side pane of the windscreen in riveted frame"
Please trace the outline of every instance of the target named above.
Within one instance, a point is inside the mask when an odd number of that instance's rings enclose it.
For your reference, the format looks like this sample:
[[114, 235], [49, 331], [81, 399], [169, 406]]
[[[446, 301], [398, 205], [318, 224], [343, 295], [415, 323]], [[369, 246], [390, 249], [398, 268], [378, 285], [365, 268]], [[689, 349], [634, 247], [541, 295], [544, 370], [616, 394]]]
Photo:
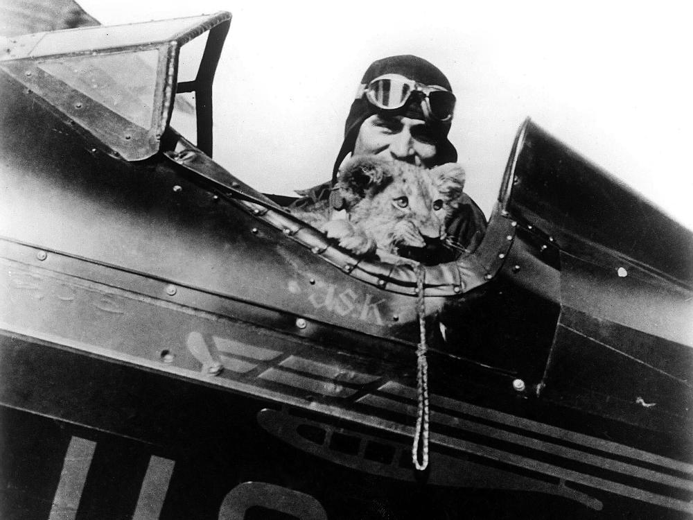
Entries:
[[149, 129], [158, 62], [159, 50], [150, 49], [45, 60], [37, 67], [128, 121]]

